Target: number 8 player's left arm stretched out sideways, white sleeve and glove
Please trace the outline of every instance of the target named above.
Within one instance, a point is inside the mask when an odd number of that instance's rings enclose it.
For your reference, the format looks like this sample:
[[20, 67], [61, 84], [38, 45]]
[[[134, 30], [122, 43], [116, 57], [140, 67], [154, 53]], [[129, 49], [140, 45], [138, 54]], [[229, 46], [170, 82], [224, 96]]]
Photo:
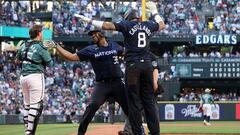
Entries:
[[103, 30], [116, 30], [115, 25], [112, 22], [105, 22], [105, 21], [98, 21], [98, 20], [92, 20], [90, 18], [87, 18], [83, 15], [74, 14], [75, 17], [81, 19], [82, 21], [86, 23], [91, 23], [93, 26], [103, 29]]

